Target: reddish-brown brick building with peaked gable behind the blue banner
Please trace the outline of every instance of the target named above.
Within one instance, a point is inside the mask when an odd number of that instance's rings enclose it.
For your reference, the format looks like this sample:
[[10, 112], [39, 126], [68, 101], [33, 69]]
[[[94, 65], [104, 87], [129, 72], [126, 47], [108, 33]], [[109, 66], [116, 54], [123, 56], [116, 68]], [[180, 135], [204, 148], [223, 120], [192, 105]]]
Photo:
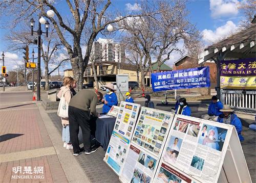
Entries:
[[217, 67], [215, 62], [205, 62], [204, 64], [198, 64], [198, 59], [193, 58], [189, 55], [185, 55], [174, 63], [173, 70], [189, 69], [203, 66], [209, 66], [210, 87], [215, 88], [217, 86]]

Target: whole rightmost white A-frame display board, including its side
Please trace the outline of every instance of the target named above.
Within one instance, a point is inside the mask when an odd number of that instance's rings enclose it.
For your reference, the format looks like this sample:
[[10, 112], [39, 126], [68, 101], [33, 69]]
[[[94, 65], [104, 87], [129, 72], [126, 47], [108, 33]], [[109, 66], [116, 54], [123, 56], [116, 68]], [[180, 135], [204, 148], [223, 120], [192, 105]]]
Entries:
[[[232, 141], [244, 168], [233, 181], [224, 173], [237, 172], [228, 153]], [[175, 115], [159, 165], [154, 182], [251, 182], [234, 126], [189, 116]]]

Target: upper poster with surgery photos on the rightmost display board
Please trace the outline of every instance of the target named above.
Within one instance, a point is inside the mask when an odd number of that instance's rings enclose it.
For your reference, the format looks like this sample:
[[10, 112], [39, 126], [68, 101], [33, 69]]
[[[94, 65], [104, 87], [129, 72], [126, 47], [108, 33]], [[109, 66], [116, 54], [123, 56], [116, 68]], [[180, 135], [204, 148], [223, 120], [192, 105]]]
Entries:
[[180, 169], [200, 182], [217, 182], [231, 136], [231, 127], [176, 115], [164, 146], [161, 163]]

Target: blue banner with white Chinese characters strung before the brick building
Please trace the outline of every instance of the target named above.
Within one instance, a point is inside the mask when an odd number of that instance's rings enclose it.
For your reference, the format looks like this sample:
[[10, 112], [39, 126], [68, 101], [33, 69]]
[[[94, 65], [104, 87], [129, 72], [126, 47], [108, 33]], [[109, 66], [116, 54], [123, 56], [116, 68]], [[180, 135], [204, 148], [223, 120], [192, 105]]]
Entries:
[[209, 67], [152, 73], [151, 78], [154, 92], [210, 87]]

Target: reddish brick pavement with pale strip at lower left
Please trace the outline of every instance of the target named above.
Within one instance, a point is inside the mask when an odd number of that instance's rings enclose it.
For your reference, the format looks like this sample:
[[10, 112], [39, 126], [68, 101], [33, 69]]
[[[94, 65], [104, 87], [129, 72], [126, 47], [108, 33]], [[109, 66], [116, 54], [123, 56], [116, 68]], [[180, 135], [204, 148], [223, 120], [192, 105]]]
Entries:
[[[0, 116], [0, 182], [68, 182], [35, 103], [2, 104]], [[33, 149], [37, 153], [29, 153]], [[32, 174], [24, 172], [25, 166]], [[22, 167], [22, 172], [13, 172], [13, 167]], [[34, 167], [43, 167], [42, 173]]]

